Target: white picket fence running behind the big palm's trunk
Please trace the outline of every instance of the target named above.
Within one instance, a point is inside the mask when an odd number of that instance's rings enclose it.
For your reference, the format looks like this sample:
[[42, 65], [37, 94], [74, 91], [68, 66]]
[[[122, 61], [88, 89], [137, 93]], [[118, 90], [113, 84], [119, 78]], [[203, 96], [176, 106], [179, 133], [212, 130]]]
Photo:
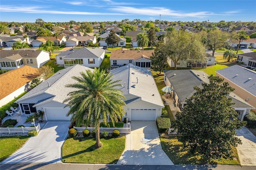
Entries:
[[[94, 127], [74, 127], [77, 132], [82, 133], [85, 129], [89, 130], [90, 132], [92, 132], [95, 128]], [[113, 133], [113, 130], [119, 130], [120, 133], [130, 133], [131, 132], [131, 128], [127, 127], [127, 128], [110, 128], [110, 127], [100, 127], [100, 132], [104, 132], [107, 131], [109, 133]]]

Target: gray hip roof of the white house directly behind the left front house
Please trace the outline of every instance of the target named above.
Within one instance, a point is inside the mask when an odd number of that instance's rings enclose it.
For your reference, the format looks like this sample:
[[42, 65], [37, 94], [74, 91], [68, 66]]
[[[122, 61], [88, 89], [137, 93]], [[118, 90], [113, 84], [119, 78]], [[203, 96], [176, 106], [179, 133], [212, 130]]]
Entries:
[[104, 49], [101, 48], [75, 48], [64, 51], [57, 56], [62, 58], [99, 58], [105, 52]]

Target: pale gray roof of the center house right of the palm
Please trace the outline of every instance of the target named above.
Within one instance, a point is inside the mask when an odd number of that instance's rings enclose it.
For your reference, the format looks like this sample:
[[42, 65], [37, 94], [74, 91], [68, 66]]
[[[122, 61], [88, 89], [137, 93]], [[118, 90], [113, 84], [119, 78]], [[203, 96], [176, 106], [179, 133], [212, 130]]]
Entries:
[[[110, 74], [113, 74], [115, 80], [121, 80], [122, 87], [119, 89], [124, 96], [137, 96], [134, 101], [127, 101], [128, 103], [141, 100], [164, 107], [150, 70], [129, 64], [112, 70]], [[136, 88], [132, 87], [133, 85], [136, 85]]]

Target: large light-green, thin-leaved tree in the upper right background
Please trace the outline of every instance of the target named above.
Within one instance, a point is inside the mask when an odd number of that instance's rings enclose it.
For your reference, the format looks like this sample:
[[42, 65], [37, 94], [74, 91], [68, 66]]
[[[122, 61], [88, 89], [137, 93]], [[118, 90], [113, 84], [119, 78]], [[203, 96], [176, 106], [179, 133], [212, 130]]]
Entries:
[[204, 62], [206, 49], [198, 34], [190, 34], [183, 30], [168, 32], [164, 38], [164, 53], [173, 61], [174, 68], [178, 62]]

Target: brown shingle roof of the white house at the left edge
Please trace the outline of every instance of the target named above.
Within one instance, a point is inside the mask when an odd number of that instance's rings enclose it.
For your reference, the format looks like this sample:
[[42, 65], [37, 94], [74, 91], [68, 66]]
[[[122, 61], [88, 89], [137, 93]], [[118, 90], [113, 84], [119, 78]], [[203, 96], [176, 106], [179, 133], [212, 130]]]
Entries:
[[40, 53], [48, 53], [43, 50], [0, 50], [0, 59], [19, 54], [23, 58], [36, 58]]

